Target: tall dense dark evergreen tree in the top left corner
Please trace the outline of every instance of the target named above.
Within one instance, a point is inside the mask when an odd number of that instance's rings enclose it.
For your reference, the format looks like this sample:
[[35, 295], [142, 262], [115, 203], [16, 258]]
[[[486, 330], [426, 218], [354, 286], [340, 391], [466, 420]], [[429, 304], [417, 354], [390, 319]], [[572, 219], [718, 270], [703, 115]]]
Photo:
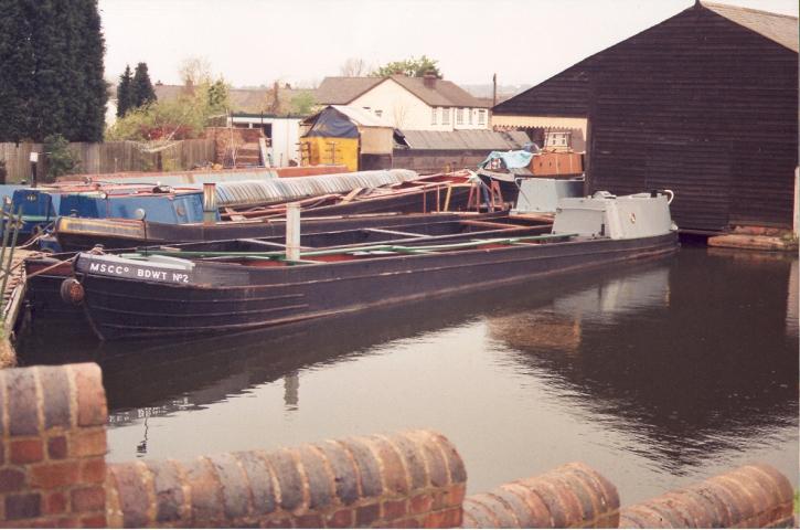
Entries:
[[0, 0], [0, 141], [103, 139], [107, 87], [96, 0]]

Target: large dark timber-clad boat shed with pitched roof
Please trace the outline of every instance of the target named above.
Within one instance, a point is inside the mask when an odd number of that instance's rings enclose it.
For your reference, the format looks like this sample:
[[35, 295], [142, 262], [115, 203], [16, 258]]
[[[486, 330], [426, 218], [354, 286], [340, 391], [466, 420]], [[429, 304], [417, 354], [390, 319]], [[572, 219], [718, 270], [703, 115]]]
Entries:
[[686, 232], [791, 229], [798, 19], [693, 7], [492, 109], [502, 128], [578, 129], [589, 191], [675, 191]]

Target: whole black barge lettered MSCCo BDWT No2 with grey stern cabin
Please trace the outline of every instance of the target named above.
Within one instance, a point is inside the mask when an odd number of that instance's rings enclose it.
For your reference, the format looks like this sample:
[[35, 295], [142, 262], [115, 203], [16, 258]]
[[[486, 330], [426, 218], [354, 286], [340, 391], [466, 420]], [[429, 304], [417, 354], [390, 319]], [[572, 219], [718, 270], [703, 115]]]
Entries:
[[330, 234], [319, 235], [301, 242], [299, 254], [259, 240], [84, 252], [60, 292], [106, 340], [268, 328], [669, 255], [678, 248], [670, 200], [657, 191], [562, 199], [547, 234], [540, 226], [466, 235], [417, 227], [334, 246]]

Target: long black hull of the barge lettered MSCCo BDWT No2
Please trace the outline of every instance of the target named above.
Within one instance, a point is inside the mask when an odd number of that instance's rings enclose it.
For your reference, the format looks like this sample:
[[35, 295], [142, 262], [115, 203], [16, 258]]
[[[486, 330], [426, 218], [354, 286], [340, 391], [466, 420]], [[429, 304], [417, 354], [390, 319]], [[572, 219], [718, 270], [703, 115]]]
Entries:
[[[154, 264], [109, 271], [109, 266], [120, 266], [104, 262], [104, 256], [81, 254], [75, 271], [93, 329], [102, 339], [111, 340], [266, 328], [654, 258], [676, 248], [678, 235], [670, 233], [637, 240], [521, 243], [314, 265], [258, 267], [194, 262], [193, 269], [186, 273], [160, 269]], [[149, 279], [138, 279], [145, 276]]]

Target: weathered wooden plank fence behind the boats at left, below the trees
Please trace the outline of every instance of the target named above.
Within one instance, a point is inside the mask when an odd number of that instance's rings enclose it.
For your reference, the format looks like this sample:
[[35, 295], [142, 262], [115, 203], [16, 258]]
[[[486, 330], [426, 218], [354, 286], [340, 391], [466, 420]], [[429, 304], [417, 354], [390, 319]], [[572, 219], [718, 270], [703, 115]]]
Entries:
[[[214, 140], [181, 140], [160, 152], [143, 152], [136, 141], [107, 141], [103, 144], [70, 144], [79, 160], [78, 173], [97, 174], [117, 171], [178, 171], [214, 162]], [[41, 155], [42, 144], [0, 144], [0, 160], [6, 161], [6, 182], [31, 179], [30, 155], [39, 152], [36, 171], [44, 181], [47, 157]]]

